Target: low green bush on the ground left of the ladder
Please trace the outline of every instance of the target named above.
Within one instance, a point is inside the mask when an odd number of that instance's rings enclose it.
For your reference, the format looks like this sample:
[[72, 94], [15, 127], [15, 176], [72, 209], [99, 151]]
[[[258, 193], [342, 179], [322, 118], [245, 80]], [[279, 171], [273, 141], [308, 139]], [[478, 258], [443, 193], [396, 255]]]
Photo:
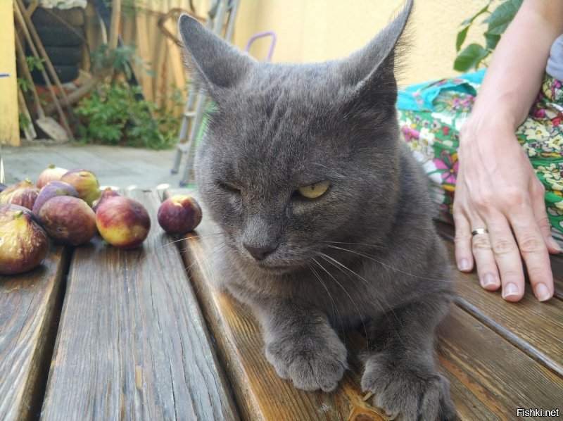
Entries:
[[[82, 99], [76, 113], [84, 118], [79, 127], [83, 142], [150, 149], [173, 146], [178, 118], [160, 112], [151, 101], [139, 100], [141, 93], [141, 87], [114, 80]], [[152, 113], [161, 117], [155, 120]]]

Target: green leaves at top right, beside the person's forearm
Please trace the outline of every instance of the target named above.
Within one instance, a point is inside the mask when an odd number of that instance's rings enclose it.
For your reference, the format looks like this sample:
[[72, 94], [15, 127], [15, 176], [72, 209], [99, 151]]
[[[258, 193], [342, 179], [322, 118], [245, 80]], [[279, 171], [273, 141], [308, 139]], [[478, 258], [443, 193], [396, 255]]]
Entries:
[[[455, 39], [455, 58], [453, 68], [460, 72], [467, 72], [471, 69], [479, 69], [487, 66], [486, 59], [496, 48], [500, 37], [505, 32], [508, 25], [512, 22], [514, 15], [522, 4], [522, 0], [504, 0], [493, 11], [490, 10], [493, 0], [481, 8], [471, 18], [462, 22], [462, 29], [457, 32]], [[482, 24], [487, 24], [487, 29], [483, 32], [485, 38], [484, 45], [472, 43], [462, 50], [462, 45], [467, 38], [469, 28], [476, 25], [476, 20], [481, 15], [487, 15]]]

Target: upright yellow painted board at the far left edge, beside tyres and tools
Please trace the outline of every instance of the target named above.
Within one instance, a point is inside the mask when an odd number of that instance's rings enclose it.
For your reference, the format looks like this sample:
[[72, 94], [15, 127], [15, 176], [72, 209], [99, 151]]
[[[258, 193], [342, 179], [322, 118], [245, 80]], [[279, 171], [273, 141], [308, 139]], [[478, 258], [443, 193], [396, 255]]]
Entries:
[[0, 27], [0, 144], [20, 146], [12, 0], [0, 0]]

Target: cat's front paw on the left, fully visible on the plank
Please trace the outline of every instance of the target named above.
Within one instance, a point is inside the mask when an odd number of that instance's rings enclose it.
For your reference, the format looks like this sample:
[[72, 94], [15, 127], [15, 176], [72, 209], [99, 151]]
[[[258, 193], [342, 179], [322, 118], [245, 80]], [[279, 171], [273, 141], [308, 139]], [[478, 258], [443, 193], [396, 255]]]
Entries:
[[348, 368], [346, 347], [332, 338], [272, 341], [266, 345], [266, 358], [282, 379], [307, 391], [333, 391]]

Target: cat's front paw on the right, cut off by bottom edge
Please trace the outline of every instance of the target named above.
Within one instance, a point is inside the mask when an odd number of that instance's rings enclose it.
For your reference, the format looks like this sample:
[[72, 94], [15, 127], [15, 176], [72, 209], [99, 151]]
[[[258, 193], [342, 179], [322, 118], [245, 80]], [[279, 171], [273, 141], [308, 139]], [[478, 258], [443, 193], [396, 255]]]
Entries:
[[434, 367], [393, 361], [386, 353], [369, 357], [362, 389], [372, 392], [373, 405], [399, 420], [456, 420], [450, 382]]

